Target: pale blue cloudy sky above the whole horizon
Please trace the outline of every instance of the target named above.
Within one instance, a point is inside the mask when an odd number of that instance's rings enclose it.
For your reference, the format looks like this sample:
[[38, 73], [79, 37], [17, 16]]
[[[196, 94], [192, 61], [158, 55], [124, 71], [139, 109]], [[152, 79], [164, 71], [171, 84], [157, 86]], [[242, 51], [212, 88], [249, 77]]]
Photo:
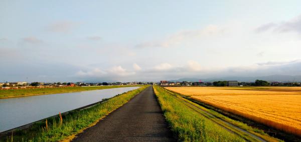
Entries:
[[0, 0], [0, 82], [301, 75], [300, 0]]

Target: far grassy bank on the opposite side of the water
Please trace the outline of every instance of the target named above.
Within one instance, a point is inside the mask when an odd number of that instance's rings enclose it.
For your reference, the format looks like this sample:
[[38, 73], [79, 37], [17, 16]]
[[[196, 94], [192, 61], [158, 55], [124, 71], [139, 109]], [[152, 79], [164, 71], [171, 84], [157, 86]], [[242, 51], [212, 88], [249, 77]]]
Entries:
[[0, 98], [14, 97], [14, 96], [26, 96], [26, 95], [38, 95], [71, 91], [84, 91], [117, 87], [128, 87], [139, 85], [113, 85], [113, 86], [87, 86], [87, 87], [55, 87], [55, 88], [27, 88], [27, 89], [1, 89]]

